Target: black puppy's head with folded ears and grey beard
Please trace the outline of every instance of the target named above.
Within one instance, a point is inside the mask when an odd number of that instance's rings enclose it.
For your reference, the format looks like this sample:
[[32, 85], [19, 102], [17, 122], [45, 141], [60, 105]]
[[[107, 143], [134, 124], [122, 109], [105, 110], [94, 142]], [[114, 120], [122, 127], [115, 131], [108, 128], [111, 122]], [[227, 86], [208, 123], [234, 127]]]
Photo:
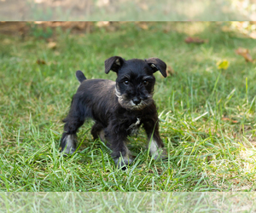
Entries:
[[113, 56], [105, 60], [105, 72], [117, 73], [116, 95], [119, 104], [128, 110], [142, 110], [153, 102], [154, 72], [166, 78], [166, 63], [158, 58], [125, 60]]

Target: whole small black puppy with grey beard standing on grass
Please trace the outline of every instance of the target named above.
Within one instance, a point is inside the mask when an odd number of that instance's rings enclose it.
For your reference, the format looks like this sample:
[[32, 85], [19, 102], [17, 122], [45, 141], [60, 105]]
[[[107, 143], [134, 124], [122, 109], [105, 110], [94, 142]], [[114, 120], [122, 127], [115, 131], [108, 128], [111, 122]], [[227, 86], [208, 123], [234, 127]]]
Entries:
[[76, 72], [81, 84], [73, 95], [69, 114], [63, 120], [61, 152], [75, 152], [78, 143], [76, 133], [86, 118], [92, 118], [95, 124], [91, 134], [112, 149], [115, 164], [121, 167], [131, 164], [130, 151], [125, 142], [127, 136], [142, 124], [148, 135], [150, 154], [154, 158], [163, 158], [164, 144], [160, 139], [158, 115], [152, 96], [155, 82], [153, 73], [160, 71], [166, 78], [166, 63], [158, 58], [125, 60], [113, 56], [105, 60], [105, 72], [108, 74], [110, 70], [117, 73], [116, 82], [89, 80], [83, 72]]

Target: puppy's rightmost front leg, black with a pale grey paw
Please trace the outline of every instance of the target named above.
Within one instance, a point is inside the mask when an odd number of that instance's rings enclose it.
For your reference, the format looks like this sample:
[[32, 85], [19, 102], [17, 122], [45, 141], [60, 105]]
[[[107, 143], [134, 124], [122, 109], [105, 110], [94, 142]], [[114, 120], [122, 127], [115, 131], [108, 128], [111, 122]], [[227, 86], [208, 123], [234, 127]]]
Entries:
[[148, 135], [148, 147], [151, 156], [154, 156], [154, 159], [167, 158], [166, 153], [164, 152], [164, 143], [160, 139], [159, 133], [159, 124], [157, 114], [152, 117], [152, 119], [146, 121], [144, 124], [144, 129]]

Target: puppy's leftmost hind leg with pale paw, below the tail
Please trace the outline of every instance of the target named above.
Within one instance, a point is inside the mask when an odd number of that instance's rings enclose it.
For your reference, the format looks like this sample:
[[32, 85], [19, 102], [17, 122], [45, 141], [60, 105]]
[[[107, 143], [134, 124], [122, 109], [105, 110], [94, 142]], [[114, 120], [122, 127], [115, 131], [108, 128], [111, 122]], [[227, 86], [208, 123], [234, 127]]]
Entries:
[[67, 115], [63, 120], [64, 132], [61, 137], [61, 153], [73, 154], [77, 149], [77, 132], [79, 127], [84, 124], [84, 107], [79, 106], [79, 101], [73, 97], [72, 105]]

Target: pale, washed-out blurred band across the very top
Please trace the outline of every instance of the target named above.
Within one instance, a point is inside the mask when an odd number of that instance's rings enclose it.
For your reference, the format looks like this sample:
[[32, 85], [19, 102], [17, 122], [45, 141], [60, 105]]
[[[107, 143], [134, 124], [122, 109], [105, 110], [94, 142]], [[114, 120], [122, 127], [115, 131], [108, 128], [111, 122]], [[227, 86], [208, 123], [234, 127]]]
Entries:
[[0, 20], [255, 20], [255, 0], [0, 0]]

